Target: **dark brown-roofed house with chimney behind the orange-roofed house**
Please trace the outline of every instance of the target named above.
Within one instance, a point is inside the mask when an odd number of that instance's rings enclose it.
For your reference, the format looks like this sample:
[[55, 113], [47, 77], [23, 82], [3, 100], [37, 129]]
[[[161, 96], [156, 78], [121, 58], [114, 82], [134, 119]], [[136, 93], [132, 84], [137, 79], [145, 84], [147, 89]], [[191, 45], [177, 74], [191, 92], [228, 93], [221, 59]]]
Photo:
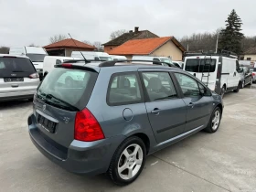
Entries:
[[109, 51], [111, 51], [113, 48], [121, 46], [123, 43], [125, 43], [128, 40], [154, 38], [154, 37], [158, 37], [158, 36], [156, 36], [154, 33], [148, 30], [139, 31], [139, 27], [134, 27], [134, 31], [130, 30], [129, 32], [124, 33], [120, 37], [116, 37], [111, 41], [102, 44], [102, 46], [104, 46], [104, 52], [109, 53]]

